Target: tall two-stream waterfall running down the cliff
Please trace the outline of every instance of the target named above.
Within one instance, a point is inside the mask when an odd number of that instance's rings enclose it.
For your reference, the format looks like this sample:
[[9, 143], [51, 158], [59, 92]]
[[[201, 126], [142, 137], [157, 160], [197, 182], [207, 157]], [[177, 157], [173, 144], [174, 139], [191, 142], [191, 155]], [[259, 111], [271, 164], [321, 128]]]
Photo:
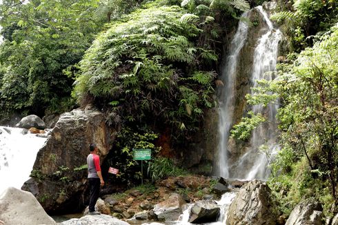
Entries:
[[[274, 79], [276, 70], [278, 43], [281, 40], [281, 32], [272, 26], [272, 22], [268, 19], [268, 14], [263, 10], [262, 6], [255, 8], [262, 17], [262, 22], [265, 26], [262, 29], [262, 35], [255, 44], [255, 50], [252, 55], [252, 70], [250, 72], [250, 83], [253, 87], [257, 86], [257, 80]], [[248, 14], [243, 14], [242, 17], [248, 18]], [[266, 144], [269, 152], [274, 154], [279, 149], [276, 140], [277, 126], [273, 123], [277, 113], [277, 105], [270, 104], [268, 107], [253, 106], [252, 111], [261, 113], [268, 117], [272, 123], [266, 123], [264, 126], [259, 126], [252, 132], [250, 143], [246, 146], [244, 153], [238, 153], [237, 159], [229, 159], [229, 136], [230, 129], [234, 124], [235, 113], [235, 96], [236, 81], [238, 76], [238, 60], [241, 49], [245, 45], [248, 36], [248, 26], [239, 23], [237, 33], [231, 42], [229, 56], [226, 60], [226, 66], [222, 72], [222, 79], [226, 82], [223, 86], [220, 96], [219, 108], [219, 157], [217, 175], [225, 178], [234, 179], [266, 179], [268, 173], [268, 159], [265, 154], [259, 153], [259, 146]], [[253, 28], [252, 28], [253, 29]], [[245, 30], [245, 32], [243, 32]], [[245, 65], [241, 65], [245, 66]], [[244, 101], [244, 99], [242, 100]], [[237, 149], [236, 149], [237, 150]]]

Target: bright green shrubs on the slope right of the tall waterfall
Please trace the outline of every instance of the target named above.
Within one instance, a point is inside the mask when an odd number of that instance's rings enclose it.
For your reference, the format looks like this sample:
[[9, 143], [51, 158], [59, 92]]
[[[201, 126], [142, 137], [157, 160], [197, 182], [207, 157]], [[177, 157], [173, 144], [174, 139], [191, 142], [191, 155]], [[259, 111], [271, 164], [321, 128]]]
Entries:
[[324, 204], [326, 213], [337, 202], [337, 43], [338, 25], [313, 48], [295, 55], [292, 66], [281, 66], [281, 75], [264, 81], [252, 98], [266, 104], [266, 93], [272, 91], [281, 102], [277, 119], [282, 148], [272, 164], [275, 177], [270, 182], [286, 214], [308, 197]]

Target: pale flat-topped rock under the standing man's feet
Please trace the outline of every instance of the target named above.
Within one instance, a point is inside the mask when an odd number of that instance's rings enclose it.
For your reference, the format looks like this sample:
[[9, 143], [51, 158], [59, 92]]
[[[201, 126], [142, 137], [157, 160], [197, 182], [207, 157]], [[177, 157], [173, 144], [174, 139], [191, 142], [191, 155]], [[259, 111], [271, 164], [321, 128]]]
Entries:
[[80, 219], [70, 219], [61, 225], [129, 225], [127, 222], [114, 218], [110, 215], [86, 215]]

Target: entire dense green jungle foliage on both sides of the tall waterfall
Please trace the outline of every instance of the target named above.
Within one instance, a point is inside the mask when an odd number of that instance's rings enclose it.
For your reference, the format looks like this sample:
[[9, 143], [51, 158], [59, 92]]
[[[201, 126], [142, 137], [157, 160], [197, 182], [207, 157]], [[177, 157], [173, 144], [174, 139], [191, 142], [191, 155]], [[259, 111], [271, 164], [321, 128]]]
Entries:
[[[90, 104], [119, 128], [124, 153], [157, 148], [156, 134], [167, 129], [179, 146], [217, 107], [223, 43], [241, 13], [261, 3], [3, 0], [0, 120]], [[288, 39], [288, 55], [278, 79], [260, 81], [248, 96], [250, 104], [280, 104], [282, 148], [270, 186], [285, 213], [305, 197], [329, 212], [338, 182], [338, 2], [278, 0], [272, 19]], [[237, 141], [266, 120], [248, 115], [232, 131]]]

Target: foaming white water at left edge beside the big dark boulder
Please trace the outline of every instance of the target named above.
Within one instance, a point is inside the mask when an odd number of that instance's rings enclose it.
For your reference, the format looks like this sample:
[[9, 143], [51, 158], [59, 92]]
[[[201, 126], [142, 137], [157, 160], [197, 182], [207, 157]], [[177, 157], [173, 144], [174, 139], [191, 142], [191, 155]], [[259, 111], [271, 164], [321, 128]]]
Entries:
[[22, 128], [0, 126], [0, 194], [10, 186], [21, 189], [30, 178], [37, 152], [46, 140], [25, 134]]

